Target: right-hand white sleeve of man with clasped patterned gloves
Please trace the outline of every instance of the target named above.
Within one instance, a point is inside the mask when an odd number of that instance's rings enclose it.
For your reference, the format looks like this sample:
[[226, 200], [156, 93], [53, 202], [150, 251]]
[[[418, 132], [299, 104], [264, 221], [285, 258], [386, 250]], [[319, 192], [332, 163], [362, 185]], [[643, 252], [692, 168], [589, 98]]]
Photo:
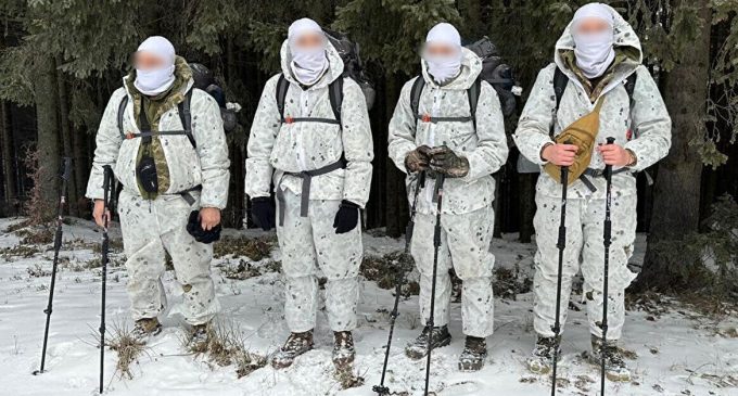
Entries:
[[465, 153], [469, 161], [469, 174], [461, 180], [469, 182], [497, 171], [505, 165], [508, 155], [502, 107], [497, 92], [485, 81], [482, 82], [476, 104], [476, 149]]

